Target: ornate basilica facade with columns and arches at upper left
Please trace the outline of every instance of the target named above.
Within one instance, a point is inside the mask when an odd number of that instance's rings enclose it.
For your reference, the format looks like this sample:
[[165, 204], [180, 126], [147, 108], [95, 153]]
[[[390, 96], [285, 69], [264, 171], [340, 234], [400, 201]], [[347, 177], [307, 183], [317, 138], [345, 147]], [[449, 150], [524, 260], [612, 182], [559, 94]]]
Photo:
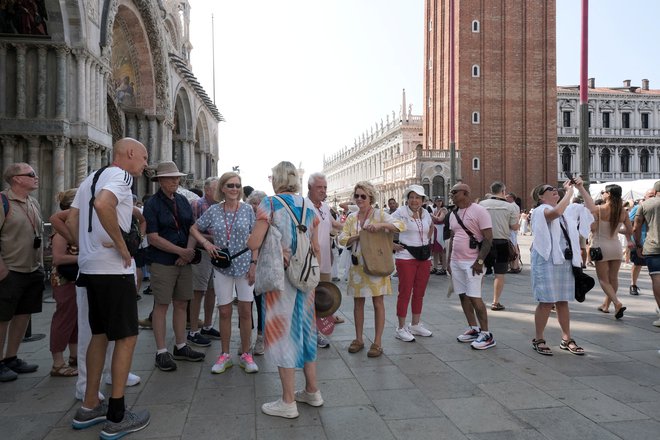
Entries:
[[175, 161], [184, 186], [217, 174], [223, 118], [192, 73], [187, 0], [0, 3], [0, 160], [35, 169], [45, 215], [126, 136], [150, 163]]

